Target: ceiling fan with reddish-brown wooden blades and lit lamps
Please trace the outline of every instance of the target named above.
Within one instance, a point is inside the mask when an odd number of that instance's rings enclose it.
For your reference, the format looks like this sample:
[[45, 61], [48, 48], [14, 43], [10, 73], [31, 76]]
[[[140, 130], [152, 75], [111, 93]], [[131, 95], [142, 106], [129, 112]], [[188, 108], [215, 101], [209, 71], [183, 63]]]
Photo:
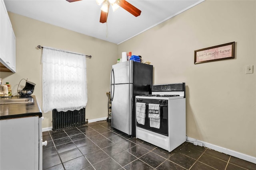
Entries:
[[[80, 0], [66, 0], [66, 1], [76, 2], [76, 1], [80, 1]], [[102, 4], [102, 2], [103, 2], [103, 5], [100, 8], [101, 9], [101, 13], [100, 13], [100, 22], [101, 23], [105, 23], [107, 21], [108, 9], [109, 9], [110, 4], [113, 8], [113, 11], [115, 11], [117, 8], [119, 8], [119, 6], [121, 6], [126, 11], [130, 12], [132, 15], [134, 15], [136, 17], [140, 16], [140, 13], [141, 13], [141, 10], [139, 10], [138, 8], [136, 8], [135, 6], [133, 6], [126, 0], [96, 0], [96, 3], [98, 5]]]

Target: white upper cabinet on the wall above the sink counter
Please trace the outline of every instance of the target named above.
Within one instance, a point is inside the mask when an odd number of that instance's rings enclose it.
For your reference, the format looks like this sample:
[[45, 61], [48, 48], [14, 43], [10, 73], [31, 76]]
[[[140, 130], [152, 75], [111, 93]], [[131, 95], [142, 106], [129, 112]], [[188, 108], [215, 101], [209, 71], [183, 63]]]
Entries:
[[0, 71], [16, 72], [16, 38], [4, 1], [0, 0]]

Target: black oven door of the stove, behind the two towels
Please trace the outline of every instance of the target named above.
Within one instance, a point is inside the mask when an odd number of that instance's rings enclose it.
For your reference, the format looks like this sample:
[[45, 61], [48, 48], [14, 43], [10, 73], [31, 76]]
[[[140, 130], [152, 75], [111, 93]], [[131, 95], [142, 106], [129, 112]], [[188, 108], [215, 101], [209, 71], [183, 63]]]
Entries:
[[146, 117], [145, 124], [139, 124], [136, 121], [137, 127], [141, 127], [143, 129], [147, 129], [149, 131], [153, 131], [156, 133], [160, 133], [162, 135], [168, 136], [168, 104], [160, 104], [160, 128], [150, 127], [150, 118], [148, 117], [148, 104], [146, 103]]

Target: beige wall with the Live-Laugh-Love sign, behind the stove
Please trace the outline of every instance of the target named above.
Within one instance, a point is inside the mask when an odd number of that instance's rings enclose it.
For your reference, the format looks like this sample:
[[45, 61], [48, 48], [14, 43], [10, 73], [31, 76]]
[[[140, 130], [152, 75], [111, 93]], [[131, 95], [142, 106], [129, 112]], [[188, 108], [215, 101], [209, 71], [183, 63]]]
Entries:
[[[235, 41], [235, 59], [194, 50]], [[188, 137], [256, 156], [256, 1], [205, 1], [118, 45], [154, 66], [154, 84], [186, 82]], [[253, 74], [245, 66], [254, 65]]]

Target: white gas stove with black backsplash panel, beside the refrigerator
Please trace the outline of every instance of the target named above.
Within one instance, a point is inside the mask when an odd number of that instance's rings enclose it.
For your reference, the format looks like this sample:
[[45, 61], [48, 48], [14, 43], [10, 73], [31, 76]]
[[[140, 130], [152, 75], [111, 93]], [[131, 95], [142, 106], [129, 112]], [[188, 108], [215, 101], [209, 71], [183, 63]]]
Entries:
[[[144, 125], [136, 121], [136, 137], [169, 152], [186, 141], [185, 83], [155, 84], [152, 94], [136, 96], [136, 106], [145, 104]], [[151, 125], [149, 105], [159, 105], [158, 126]], [[152, 106], [152, 105], [151, 105]], [[136, 112], [137, 113], [137, 112]]]

